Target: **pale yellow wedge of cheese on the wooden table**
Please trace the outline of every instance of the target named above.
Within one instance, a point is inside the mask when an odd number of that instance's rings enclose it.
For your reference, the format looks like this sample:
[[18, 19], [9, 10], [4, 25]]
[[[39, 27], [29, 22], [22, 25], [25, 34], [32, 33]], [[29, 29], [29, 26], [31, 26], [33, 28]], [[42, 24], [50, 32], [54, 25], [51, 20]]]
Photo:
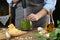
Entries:
[[8, 32], [11, 36], [19, 36], [19, 35], [27, 33], [26, 31], [18, 30], [17, 28], [15, 28], [13, 24], [10, 24], [8, 26]]

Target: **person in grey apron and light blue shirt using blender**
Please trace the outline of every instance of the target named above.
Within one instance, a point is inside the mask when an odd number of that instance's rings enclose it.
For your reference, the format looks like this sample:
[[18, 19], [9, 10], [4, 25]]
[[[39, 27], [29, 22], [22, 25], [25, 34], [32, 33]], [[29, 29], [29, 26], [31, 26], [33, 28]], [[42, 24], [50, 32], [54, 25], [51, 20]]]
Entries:
[[[15, 7], [15, 26], [20, 27], [21, 20], [24, 19], [22, 0], [7, 0], [10, 6]], [[13, 5], [12, 5], [13, 3]], [[48, 21], [47, 13], [55, 10], [56, 0], [26, 0], [27, 19], [32, 21], [33, 27], [45, 27]]]

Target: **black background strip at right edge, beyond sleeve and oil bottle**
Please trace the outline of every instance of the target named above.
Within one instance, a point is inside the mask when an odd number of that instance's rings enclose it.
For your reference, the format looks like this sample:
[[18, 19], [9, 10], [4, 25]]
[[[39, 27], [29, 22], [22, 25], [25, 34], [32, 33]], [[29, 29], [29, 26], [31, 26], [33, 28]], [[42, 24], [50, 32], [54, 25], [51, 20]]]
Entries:
[[60, 20], [60, 0], [57, 0], [56, 9], [53, 12], [55, 27], [57, 27], [57, 20]]

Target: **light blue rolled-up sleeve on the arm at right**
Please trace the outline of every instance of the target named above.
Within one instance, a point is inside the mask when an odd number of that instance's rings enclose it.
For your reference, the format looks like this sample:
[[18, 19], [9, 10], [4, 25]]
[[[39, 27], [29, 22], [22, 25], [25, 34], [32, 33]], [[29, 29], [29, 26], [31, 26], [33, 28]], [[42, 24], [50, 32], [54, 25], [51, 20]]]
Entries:
[[52, 12], [55, 10], [56, 0], [44, 0], [44, 9], [46, 9], [48, 12], [52, 10]]

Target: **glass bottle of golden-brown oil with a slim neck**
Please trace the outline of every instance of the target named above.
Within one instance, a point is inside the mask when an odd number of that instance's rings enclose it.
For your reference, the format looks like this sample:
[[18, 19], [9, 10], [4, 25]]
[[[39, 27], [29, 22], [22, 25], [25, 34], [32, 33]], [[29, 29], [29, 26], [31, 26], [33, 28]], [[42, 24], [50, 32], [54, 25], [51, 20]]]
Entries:
[[45, 27], [47, 33], [53, 32], [54, 29], [55, 29], [54, 28], [54, 20], [53, 20], [53, 17], [52, 17], [52, 13], [51, 13], [51, 15], [48, 15], [48, 16], [49, 16], [49, 21], [46, 22], [46, 27]]

